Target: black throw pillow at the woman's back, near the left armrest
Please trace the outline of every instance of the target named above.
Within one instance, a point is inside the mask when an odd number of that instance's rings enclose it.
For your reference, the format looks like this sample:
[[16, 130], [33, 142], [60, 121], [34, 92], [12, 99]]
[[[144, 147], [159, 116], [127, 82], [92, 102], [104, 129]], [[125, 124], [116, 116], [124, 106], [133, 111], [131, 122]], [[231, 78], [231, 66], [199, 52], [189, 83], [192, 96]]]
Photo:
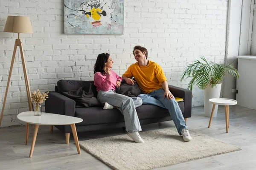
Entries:
[[76, 108], [102, 107], [96, 97], [93, 96], [91, 84], [84, 85], [77, 90], [62, 92], [62, 94], [75, 100]]

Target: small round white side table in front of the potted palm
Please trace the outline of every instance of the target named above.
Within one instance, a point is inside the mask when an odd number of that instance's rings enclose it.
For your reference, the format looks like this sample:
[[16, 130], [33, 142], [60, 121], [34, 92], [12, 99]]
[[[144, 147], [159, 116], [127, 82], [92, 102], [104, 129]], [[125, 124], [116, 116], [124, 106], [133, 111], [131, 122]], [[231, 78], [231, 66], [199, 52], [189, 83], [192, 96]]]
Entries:
[[228, 127], [229, 127], [229, 106], [230, 105], [236, 105], [237, 101], [233, 99], [225, 99], [225, 98], [213, 98], [209, 99], [209, 103], [212, 103], [212, 113], [209, 121], [208, 128], [210, 128], [211, 122], [212, 122], [212, 116], [214, 112], [215, 105], [224, 105], [225, 106], [225, 116], [226, 116], [226, 132], [228, 133]]

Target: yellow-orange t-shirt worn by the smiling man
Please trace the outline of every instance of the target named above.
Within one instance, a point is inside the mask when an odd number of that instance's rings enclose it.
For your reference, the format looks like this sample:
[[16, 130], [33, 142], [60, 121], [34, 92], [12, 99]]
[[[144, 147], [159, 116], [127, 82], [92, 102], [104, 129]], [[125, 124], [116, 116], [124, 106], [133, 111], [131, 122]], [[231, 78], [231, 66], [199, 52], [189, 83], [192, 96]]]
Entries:
[[140, 89], [145, 94], [162, 88], [161, 82], [167, 80], [160, 65], [152, 61], [149, 61], [147, 66], [141, 66], [136, 62], [130, 65], [122, 76], [128, 78], [134, 77]]

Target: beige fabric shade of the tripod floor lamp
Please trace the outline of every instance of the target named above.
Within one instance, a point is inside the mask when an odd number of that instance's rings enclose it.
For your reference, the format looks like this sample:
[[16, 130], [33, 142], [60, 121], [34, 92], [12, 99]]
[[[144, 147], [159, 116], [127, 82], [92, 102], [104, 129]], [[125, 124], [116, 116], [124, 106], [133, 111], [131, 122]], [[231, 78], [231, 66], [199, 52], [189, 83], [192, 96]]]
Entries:
[[33, 34], [29, 17], [20, 16], [8, 16], [3, 31]]

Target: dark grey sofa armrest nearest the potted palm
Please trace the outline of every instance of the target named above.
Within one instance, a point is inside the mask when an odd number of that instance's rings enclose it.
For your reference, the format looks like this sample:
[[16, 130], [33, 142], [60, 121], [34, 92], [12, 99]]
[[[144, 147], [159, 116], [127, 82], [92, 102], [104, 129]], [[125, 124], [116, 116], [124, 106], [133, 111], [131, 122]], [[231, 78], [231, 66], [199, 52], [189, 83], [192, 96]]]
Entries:
[[184, 99], [184, 118], [191, 117], [192, 111], [192, 91], [187, 90], [185, 88], [175, 87], [173, 85], [169, 85], [169, 90], [175, 97], [180, 97]]

